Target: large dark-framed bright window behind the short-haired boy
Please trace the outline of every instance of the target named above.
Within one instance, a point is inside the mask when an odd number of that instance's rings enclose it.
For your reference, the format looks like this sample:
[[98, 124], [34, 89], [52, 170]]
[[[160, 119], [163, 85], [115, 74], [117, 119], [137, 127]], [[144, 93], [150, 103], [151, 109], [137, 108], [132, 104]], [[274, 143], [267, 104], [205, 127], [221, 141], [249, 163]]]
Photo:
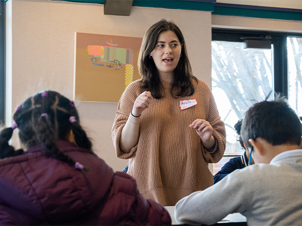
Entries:
[[234, 125], [254, 102], [279, 92], [302, 116], [301, 71], [301, 34], [212, 30], [212, 92], [227, 134], [224, 156], [213, 174], [244, 153]]

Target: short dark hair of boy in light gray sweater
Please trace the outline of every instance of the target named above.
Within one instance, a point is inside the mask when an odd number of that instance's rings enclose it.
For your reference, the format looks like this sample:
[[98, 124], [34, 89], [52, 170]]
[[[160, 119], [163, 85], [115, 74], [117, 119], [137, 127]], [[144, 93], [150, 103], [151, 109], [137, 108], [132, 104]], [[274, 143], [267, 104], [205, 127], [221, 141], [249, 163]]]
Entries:
[[263, 138], [271, 145], [300, 145], [302, 126], [284, 96], [255, 103], [245, 115], [241, 136], [247, 147], [249, 139]]

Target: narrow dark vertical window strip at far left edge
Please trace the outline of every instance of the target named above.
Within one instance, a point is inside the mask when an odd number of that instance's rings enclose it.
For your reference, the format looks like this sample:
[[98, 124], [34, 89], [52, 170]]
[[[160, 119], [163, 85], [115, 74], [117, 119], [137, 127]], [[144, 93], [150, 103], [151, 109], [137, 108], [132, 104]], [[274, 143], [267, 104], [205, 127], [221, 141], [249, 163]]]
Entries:
[[0, 125], [5, 123], [5, 3], [0, 0]]

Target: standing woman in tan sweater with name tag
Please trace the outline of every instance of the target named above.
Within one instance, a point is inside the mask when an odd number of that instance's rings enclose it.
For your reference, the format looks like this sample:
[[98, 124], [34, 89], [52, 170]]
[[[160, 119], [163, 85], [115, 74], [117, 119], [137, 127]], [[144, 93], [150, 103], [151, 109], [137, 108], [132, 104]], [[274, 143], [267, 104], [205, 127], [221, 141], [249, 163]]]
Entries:
[[225, 149], [224, 124], [209, 87], [192, 75], [180, 29], [161, 20], [139, 52], [142, 79], [122, 94], [112, 128], [117, 157], [130, 159], [144, 197], [175, 205], [213, 184], [208, 163]]

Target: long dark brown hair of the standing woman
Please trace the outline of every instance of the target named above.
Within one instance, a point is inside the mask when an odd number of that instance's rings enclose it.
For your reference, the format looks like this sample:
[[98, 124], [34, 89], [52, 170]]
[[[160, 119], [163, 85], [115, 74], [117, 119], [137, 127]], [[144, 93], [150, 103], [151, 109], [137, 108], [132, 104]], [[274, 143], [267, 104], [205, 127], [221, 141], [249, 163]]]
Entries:
[[[154, 50], [159, 35], [164, 31], [173, 31], [181, 44], [181, 57], [174, 70], [172, 90], [173, 88], [178, 89], [176, 96], [192, 95], [194, 93], [192, 79], [197, 81], [197, 78], [192, 75], [192, 68], [183, 34], [176, 24], [164, 19], [152, 25], [142, 39], [137, 62], [138, 71], [142, 77], [141, 87], [150, 91], [152, 96], [157, 99], [162, 97], [159, 73], [154, 60], [149, 58], [149, 54]], [[174, 95], [172, 90], [171, 93]]]

